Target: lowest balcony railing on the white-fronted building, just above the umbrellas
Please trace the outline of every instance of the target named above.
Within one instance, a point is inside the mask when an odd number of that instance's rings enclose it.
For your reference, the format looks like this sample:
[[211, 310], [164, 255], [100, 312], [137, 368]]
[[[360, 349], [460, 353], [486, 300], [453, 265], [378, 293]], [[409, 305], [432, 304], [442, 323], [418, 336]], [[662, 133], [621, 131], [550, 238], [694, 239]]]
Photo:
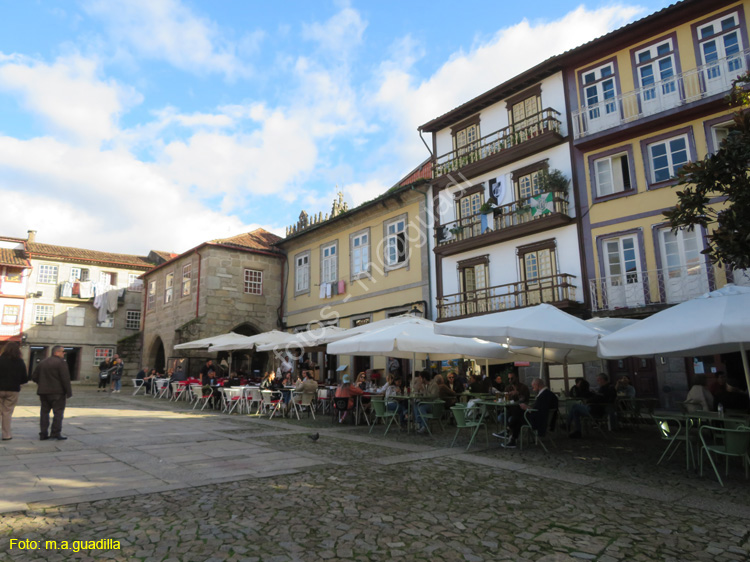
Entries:
[[438, 299], [438, 319], [501, 312], [540, 303], [566, 303], [576, 299], [575, 276], [558, 273], [534, 281], [517, 281]]

